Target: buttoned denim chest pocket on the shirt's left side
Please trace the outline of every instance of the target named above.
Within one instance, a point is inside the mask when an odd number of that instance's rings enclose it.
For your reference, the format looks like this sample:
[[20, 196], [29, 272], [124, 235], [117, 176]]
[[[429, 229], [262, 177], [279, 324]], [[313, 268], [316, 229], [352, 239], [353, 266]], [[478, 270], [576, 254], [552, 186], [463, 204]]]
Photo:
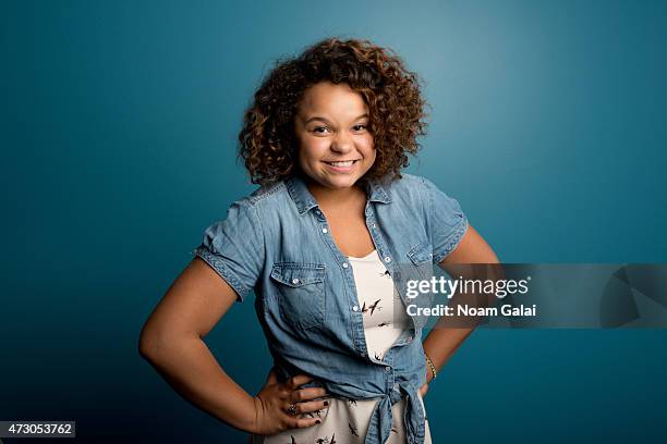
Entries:
[[325, 266], [277, 262], [271, 279], [280, 292], [282, 319], [296, 329], [311, 329], [325, 320]]

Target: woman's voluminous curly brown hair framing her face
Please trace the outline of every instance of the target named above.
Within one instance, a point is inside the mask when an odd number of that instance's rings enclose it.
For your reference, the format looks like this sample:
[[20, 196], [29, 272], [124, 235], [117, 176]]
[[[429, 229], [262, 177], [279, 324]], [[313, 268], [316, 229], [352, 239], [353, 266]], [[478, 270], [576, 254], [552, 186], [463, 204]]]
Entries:
[[269, 185], [299, 170], [294, 116], [304, 91], [319, 82], [345, 83], [369, 111], [376, 160], [365, 178], [400, 178], [407, 153], [426, 134], [426, 106], [415, 73], [391, 50], [368, 40], [328, 38], [299, 57], [278, 60], [255, 92], [239, 133], [239, 156], [254, 184]]

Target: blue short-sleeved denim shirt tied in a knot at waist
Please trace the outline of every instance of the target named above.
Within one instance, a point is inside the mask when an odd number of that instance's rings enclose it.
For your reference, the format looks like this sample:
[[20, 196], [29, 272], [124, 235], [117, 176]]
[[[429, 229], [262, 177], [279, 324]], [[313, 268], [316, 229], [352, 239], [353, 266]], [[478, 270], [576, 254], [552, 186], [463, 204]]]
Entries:
[[[392, 182], [361, 182], [365, 219], [375, 248], [404, 304], [402, 281], [428, 279], [461, 240], [468, 219], [459, 203], [426, 178], [402, 174]], [[206, 229], [193, 254], [237, 292], [255, 291], [255, 310], [278, 380], [314, 378], [331, 396], [378, 398], [366, 444], [391, 433], [391, 405], [405, 396], [408, 443], [423, 443], [424, 409], [417, 397], [426, 382], [424, 322], [412, 317], [383, 360], [368, 356], [352, 266], [305, 182], [292, 176], [231, 205], [227, 219]], [[428, 301], [423, 303], [427, 305]], [[402, 308], [404, 309], [404, 308]]]

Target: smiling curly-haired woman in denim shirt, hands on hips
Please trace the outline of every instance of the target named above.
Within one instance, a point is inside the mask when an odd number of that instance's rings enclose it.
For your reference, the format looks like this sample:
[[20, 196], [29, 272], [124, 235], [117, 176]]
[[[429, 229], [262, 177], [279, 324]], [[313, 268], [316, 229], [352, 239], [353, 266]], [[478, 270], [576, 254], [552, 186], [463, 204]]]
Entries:
[[[240, 134], [262, 187], [206, 230], [142, 332], [177, 391], [267, 444], [430, 442], [422, 396], [471, 330], [422, 343], [401, 272], [497, 258], [456, 200], [400, 173], [423, 108], [415, 75], [368, 41], [327, 39], [269, 73]], [[256, 396], [202, 340], [251, 289], [274, 358]]]

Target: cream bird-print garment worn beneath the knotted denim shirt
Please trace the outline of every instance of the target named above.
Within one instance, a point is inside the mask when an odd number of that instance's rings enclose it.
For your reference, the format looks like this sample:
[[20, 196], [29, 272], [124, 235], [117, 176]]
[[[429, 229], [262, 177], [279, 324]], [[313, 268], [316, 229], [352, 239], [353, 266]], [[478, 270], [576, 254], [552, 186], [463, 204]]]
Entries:
[[[359, 298], [357, 309], [364, 320], [364, 333], [368, 357], [381, 361], [398, 340], [402, 329], [410, 325], [403, 301], [393, 289], [391, 275], [376, 250], [363, 258], [348, 257], [354, 273]], [[397, 305], [400, 304], [400, 305]], [[364, 443], [373, 408], [377, 399], [329, 398], [329, 407], [299, 415], [301, 418], [319, 418], [319, 424], [290, 429], [270, 436], [252, 436], [253, 444], [356, 444]], [[423, 400], [422, 406], [424, 406]], [[393, 422], [387, 443], [404, 444], [405, 431], [401, 419], [404, 402], [391, 407]], [[426, 420], [425, 443], [430, 444], [430, 432]]]

